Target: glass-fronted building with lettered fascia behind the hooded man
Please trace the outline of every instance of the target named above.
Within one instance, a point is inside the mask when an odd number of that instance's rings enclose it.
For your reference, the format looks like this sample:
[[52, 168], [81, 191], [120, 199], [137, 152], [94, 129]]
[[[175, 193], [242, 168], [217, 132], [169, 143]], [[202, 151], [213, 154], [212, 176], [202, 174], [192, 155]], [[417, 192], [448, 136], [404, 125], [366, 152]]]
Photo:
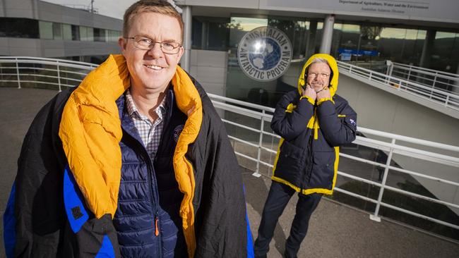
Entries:
[[[379, 71], [386, 68], [386, 60], [448, 73], [459, 70], [459, 2], [455, 0], [175, 2], [183, 9], [185, 26], [191, 21], [182, 66], [209, 92], [235, 99], [273, 106], [283, 92], [296, 87], [299, 69], [314, 53]], [[267, 36], [263, 27], [276, 32]], [[268, 78], [272, 67], [260, 66], [253, 55], [246, 62], [241, 56], [238, 59], [238, 51], [244, 49], [240, 44], [247, 42], [244, 35], [256, 28], [265, 30], [258, 32], [261, 38], [275, 39], [270, 36], [282, 32], [290, 42], [290, 59], [285, 59], [290, 64], [279, 67], [279, 76]], [[256, 46], [256, 40], [252, 43]], [[267, 52], [261, 55], [268, 58], [271, 47], [265, 45], [261, 49]]]

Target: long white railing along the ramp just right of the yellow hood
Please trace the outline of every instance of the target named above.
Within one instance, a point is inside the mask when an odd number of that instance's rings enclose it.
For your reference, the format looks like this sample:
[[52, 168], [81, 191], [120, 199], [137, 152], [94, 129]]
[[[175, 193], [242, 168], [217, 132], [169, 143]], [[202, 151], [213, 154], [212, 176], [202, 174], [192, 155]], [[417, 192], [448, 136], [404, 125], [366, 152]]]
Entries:
[[459, 94], [446, 90], [437, 89], [436, 87], [422, 85], [419, 82], [412, 82], [403, 78], [398, 78], [374, 70], [369, 70], [359, 66], [353, 66], [349, 63], [338, 61], [340, 73], [357, 75], [366, 80], [378, 82], [381, 85], [391, 87], [400, 92], [407, 92], [422, 99], [442, 104], [448, 108], [459, 111]]

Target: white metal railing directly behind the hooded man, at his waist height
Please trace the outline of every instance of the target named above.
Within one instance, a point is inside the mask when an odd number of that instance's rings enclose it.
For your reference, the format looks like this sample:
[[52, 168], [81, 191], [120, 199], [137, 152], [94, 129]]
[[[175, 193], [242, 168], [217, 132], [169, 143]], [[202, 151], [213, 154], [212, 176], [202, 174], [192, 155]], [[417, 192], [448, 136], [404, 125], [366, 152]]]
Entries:
[[[227, 125], [234, 126], [239, 128], [240, 130], [246, 130], [249, 132], [253, 132], [258, 134], [258, 139], [254, 140], [244, 140], [244, 135], [246, 133], [237, 133], [237, 130], [234, 130], [236, 133], [231, 133], [232, 130], [229, 131], [229, 139], [234, 141], [234, 151], [242, 159], [247, 159], [255, 163], [254, 166], [249, 166], [249, 168], [253, 169], [254, 176], [268, 176], [272, 175], [270, 169], [273, 168], [273, 156], [276, 154], [276, 149], [278, 148], [278, 139], [280, 138], [278, 135], [275, 135], [272, 130], [266, 129], [266, 125], [270, 123], [271, 118], [273, 117], [272, 114], [274, 112], [273, 108], [267, 106], [260, 106], [256, 104], [251, 104], [248, 102], [242, 102], [235, 99], [229, 99], [226, 97], [221, 97], [215, 94], [208, 94], [210, 98], [213, 100], [213, 104], [217, 110], [225, 111], [223, 114], [222, 121], [227, 123]], [[226, 118], [228, 113], [235, 113], [238, 116], [246, 118], [245, 121], [253, 121], [256, 119], [259, 121], [258, 127], [244, 125], [239, 123], [239, 121], [244, 121], [244, 118], [237, 118], [236, 121]], [[234, 116], [229, 116], [233, 117]], [[253, 124], [253, 123], [252, 123]], [[406, 137], [403, 135], [395, 135], [392, 133], [385, 133], [378, 130], [371, 130], [369, 128], [358, 128], [359, 133], [366, 135], [367, 137], [357, 136], [357, 139], [353, 142], [354, 145], [358, 147], [369, 147], [372, 149], [377, 149], [378, 151], [384, 152], [387, 154], [386, 162], [380, 163], [378, 161], [374, 161], [371, 159], [362, 158], [362, 156], [355, 156], [352, 154], [345, 154], [343, 152], [340, 153], [340, 157], [349, 159], [353, 162], [358, 162], [359, 164], [368, 164], [371, 166], [377, 166], [383, 168], [383, 178], [381, 182], [377, 182], [374, 180], [366, 179], [365, 177], [355, 176], [352, 173], [345, 172], [345, 171], [338, 171], [338, 183], [336, 185], [340, 185], [339, 180], [340, 178], [346, 178], [350, 180], [356, 180], [361, 183], [366, 183], [369, 185], [373, 185], [379, 188], [378, 197], [376, 199], [372, 199], [366, 197], [364, 195], [359, 195], [356, 192], [351, 192], [349, 190], [344, 190], [340, 187], [336, 187], [335, 191], [341, 192], [345, 195], [350, 195], [352, 197], [356, 197], [359, 199], [363, 199], [367, 202], [371, 202], [376, 204], [376, 208], [370, 215], [370, 218], [375, 221], [380, 221], [380, 209], [381, 207], [386, 207], [390, 209], [394, 209], [396, 211], [403, 212], [405, 214], [410, 214], [411, 216], [415, 216], [421, 219], [426, 219], [428, 221], [433, 221], [435, 223], [439, 223], [443, 226], [448, 226], [459, 230], [459, 223], [451, 223], [447, 221], [442, 221], [440, 219], [433, 218], [431, 216], [426, 216], [424, 214], [419, 214], [417, 212], [410, 211], [409, 209], [405, 209], [404, 207], [398, 207], [393, 204], [389, 204], [387, 202], [383, 202], [383, 195], [388, 190], [397, 192], [401, 195], [407, 195], [410, 197], [415, 197], [418, 199], [426, 200], [430, 203], [434, 204], [441, 204], [449, 207], [450, 209], [457, 209], [459, 211], [459, 204], [448, 202], [446, 200], [437, 199], [435, 197], [429, 197], [425, 195], [420, 195], [417, 192], [410, 192], [407, 190], [402, 190], [399, 188], [395, 188], [391, 185], [388, 185], [388, 176], [391, 176], [391, 173], [403, 173], [405, 175], [409, 175], [415, 178], [420, 178], [422, 180], [431, 180], [432, 182], [443, 183], [448, 186], [452, 186], [456, 188], [456, 191], [459, 190], [459, 182], [457, 181], [458, 174], [459, 174], [459, 147], [455, 147], [452, 145], [444, 145], [438, 142], [430, 142], [427, 140], [419, 140], [413, 137]], [[376, 136], [376, 138], [368, 137], [370, 135]], [[277, 140], [268, 140], [268, 145], [266, 144], [266, 138], [275, 138]], [[381, 140], [381, 138], [386, 139], [386, 141]], [[271, 144], [269, 144], [269, 142]], [[407, 145], [417, 145], [422, 146], [424, 149], [416, 148], [416, 147], [408, 147], [406, 145], [402, 145], [399, 142], [406, 142]], [[248, 149], [254, 148], [255, 150], [248, 151]], [[429, 148], [439, 149], [439, 152], [432, 152], [431, 150], [426, 150]], [[264, 152], [264, 154], [263, 154]], [[441, 152], [452, 152], [455, 156], [442, 154]], [[268, 154], [268, 155], [267, 155]], [[448, 180], [446, 178], [441, 178], [439, 176], [432, 176], [425, 171], [413, 171], [410, 168], [400, 168], [400, 166], [396, 166], [393, 161], [393, 155], [398, 154], [399, 156], [409, 157], [410, 159], [419, 159], [422, 161], [429, 161], [431, 163], [437, 164], [438, 166], [448, 166], [450, 169], [449, 171], [453, 171], [455, 174], [456, 180]], [[265, 156], [263, 159], [262, 156]], [[269, 156], [269, 158], [266, 158]], [[261, 172], [261, 166], [268, 167], [268, 172]]]

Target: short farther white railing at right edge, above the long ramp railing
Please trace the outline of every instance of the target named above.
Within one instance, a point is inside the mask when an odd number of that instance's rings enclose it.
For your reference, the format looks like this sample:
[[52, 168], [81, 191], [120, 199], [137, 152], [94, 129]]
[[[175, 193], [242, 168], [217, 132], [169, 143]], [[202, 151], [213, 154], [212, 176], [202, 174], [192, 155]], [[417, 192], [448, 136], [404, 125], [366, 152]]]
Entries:
[[459, 94], [459, 75], [439, 70], [410, 66], [404, 63], [393, 63], [388, 75], [402, 78], [421, 85]]

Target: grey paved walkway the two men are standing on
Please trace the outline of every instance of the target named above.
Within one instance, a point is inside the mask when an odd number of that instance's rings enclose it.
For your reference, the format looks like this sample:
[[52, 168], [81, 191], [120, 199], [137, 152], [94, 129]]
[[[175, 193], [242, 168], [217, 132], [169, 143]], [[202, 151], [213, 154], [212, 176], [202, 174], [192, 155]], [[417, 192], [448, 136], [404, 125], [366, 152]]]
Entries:
[[[0, 211], [3, 214], [16, 176], [16, 161], [23, 137], [33, 117], [57, 92], [0, 88]], [[270, 180], [255, 178], [243, 170], [252, 233], [261, 219]], [[292, 197], [275, 229], [268, 257], [282, 257], [285, 239], [294, 216], [297, 196]], [[3, 222], [3, 221], [2, 221]], [[0, 226], [3, 233], [3, 223]], [[3, 241], [0, 257], [4, 257]], [[298, 257], [459, 257], [459, 245], [390, 221], [371, 221], [369, 215], [323, 199], [311, 217], [309, 234]]]

